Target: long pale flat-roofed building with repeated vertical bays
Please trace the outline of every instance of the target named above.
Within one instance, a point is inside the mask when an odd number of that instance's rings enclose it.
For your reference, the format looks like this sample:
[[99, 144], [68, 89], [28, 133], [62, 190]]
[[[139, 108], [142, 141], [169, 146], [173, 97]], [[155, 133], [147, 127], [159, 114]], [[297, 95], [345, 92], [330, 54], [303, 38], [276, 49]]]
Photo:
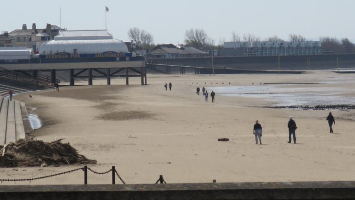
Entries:
[[319, 55], [319, 41], [305, 42], [224, 42], [220, 56], [297, 56]]

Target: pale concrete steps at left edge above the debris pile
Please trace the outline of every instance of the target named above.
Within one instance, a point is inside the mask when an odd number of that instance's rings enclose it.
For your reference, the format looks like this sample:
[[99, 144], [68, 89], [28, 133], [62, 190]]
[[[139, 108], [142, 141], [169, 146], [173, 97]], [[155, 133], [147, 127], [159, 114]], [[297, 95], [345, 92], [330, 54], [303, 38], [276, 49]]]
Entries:
[[21, 107], [22, 110], [26, 110], [23, 103], [0, 97], [0, 145], [26, 137]]

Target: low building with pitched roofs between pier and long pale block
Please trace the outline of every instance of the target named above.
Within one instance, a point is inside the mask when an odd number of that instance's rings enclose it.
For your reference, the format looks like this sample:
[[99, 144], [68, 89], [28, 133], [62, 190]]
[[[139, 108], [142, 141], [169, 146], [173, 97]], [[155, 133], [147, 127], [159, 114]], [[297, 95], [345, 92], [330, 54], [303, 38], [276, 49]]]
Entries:
[[186, 58], [206, 57], [208, 52], [202, 52], [194, 47], [173, 44], [159, 44], [148, 53], [149, 58]]

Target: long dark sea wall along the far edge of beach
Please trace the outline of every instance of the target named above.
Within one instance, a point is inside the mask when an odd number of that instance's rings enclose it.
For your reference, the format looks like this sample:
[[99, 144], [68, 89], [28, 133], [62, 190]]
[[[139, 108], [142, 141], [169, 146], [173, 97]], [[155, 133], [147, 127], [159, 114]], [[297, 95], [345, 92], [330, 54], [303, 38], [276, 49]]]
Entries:
[[[213, 57], [216, 68], [278, 70], [278, 56]], [[148, 59], [148, 63], [212, 67], [212, 57]], [[355, 54], [280, 56], [281, 70], [334, 69], [355, 67]]]

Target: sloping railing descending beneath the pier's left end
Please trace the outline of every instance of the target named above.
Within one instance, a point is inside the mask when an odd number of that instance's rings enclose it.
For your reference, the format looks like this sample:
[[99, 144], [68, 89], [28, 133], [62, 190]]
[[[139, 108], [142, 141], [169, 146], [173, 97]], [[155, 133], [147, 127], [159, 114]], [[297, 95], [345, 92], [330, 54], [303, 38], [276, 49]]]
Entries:
[[4, 68], [1, 68], [1, 67], [0, 67], [0, 75], [3, 76], [6, 79], [18, 81], [18, 82], [21, 82], [21, 83], [30, 83], [30, 84], [44, 86], [44, 87], [54, 87], [53, 83], [42, 81], [42, 80], [38, 80], [38, 79], [34, 79], [34, 78], [23, 77], [23, 76], [20, 76], [15, 71], [11, 71], [11, 70], [4, 69]]

